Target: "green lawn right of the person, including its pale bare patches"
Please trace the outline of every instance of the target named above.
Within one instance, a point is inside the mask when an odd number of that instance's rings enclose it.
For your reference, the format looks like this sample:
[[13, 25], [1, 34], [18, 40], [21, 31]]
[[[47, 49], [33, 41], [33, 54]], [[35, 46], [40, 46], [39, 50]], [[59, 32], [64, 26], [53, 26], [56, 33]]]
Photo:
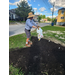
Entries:
[[[65, 27], [57, 27], [57, 26], [45, 26], [42, 27], [44, 38], [55, 38], [63, 43], [65, 43]], [[36, 31], [31, 33], [36, 36]]]

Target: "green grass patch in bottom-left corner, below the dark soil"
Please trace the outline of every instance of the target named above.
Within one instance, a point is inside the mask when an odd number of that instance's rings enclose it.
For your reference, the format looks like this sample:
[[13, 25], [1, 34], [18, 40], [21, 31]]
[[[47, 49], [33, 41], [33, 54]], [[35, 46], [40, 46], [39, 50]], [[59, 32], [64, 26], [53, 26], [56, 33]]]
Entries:
[[24, 73], [20, 69], [9, 65], [9, 75], [24, 75]]

